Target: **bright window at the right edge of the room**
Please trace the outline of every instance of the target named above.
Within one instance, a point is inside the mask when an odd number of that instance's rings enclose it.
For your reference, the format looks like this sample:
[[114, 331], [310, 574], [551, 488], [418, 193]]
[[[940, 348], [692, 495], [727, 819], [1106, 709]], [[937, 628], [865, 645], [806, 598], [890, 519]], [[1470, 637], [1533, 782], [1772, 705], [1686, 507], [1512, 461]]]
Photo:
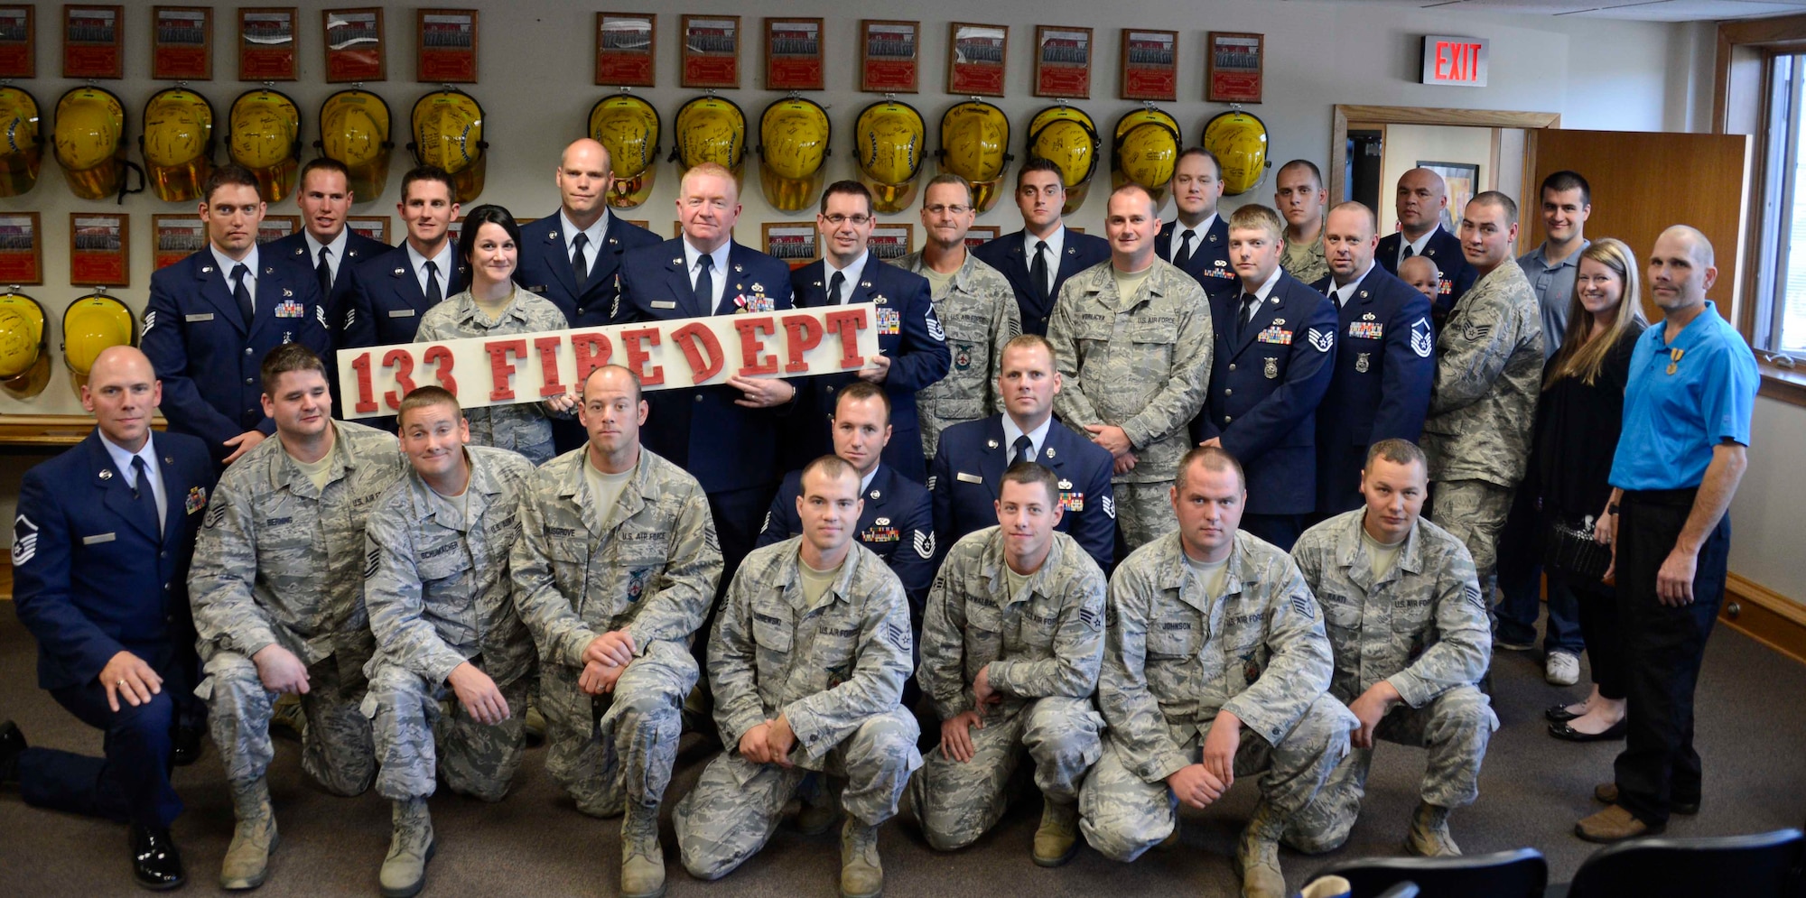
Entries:
[[1806, 357], [1806, 54], [1768, 60], [1763, 128], [1761, 256], [1755, 332], [1759, 350]]

